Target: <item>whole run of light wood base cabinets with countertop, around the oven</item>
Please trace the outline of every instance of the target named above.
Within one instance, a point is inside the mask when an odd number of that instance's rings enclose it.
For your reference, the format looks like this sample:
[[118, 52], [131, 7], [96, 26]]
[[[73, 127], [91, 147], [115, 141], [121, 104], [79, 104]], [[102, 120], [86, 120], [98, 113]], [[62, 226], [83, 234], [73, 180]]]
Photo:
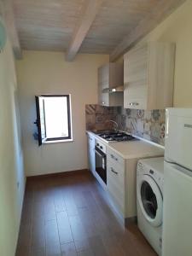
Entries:
[[[137, 140], [132, 143], [116, 143], [115, 146], [115, 143], [104, 143], [102, 139], [89, 131], [87, 136], [90, 171], [102, 185], [103, 193], [106, 193], [110, 207], [113, 209], [113, 212], [117, 213], [125, 225], [136, 221], [137, 161], [142, 158], [163, 156], [164, 150]], [[101, 183], [101, 179], [97, 175], [98, 172], [96, 172], [95, 145], [97, 146], [97, 144], [100, 144], [100, 148], [105, 148], [104, 154], [107, 155], [107, 163], [104, 161], [105, 174], [107, 172], [107, 184]], [[138, 150], [138, 148], [140, 149]], [[125, 155], [125, 157], [121, 155]]]

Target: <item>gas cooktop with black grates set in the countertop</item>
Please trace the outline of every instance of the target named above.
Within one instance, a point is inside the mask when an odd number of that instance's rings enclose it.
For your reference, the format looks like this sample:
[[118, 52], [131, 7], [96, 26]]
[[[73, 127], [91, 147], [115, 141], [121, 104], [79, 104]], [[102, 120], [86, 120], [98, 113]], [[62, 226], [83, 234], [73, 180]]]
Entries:
[[135, 137], [120, 131], [98, 131], [96, 134], [107, 142], [127, 142], [135, 139]]

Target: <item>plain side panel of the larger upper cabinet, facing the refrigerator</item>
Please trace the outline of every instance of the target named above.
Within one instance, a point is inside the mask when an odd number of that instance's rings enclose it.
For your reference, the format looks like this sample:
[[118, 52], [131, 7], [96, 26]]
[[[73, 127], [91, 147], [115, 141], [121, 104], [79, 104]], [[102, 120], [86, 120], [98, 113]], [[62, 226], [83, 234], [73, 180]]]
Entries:
[[172, 108], [175, 44], [148, 44], [148, 109]]

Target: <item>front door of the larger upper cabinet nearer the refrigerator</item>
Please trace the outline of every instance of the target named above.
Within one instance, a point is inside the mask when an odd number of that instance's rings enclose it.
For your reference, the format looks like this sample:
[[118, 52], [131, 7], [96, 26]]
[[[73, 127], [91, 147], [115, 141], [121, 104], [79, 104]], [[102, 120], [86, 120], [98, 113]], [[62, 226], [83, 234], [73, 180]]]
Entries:
[[132, 49], [124, 56], [124, 108], [147, 108], [148, 45]]

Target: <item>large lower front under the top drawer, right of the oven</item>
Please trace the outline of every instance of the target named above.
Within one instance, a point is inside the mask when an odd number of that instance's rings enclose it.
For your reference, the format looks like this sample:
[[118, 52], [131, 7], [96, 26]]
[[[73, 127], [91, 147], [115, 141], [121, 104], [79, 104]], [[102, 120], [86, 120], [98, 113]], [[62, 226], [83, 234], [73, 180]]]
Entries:
[[114, 167], [113, 164], [108, 162], [107, 169], [107, 188], [110, 197], [119, 208], [119, 212], [124, 215], [125, 213], [125, 178], [124, 172], [120, 168]]

